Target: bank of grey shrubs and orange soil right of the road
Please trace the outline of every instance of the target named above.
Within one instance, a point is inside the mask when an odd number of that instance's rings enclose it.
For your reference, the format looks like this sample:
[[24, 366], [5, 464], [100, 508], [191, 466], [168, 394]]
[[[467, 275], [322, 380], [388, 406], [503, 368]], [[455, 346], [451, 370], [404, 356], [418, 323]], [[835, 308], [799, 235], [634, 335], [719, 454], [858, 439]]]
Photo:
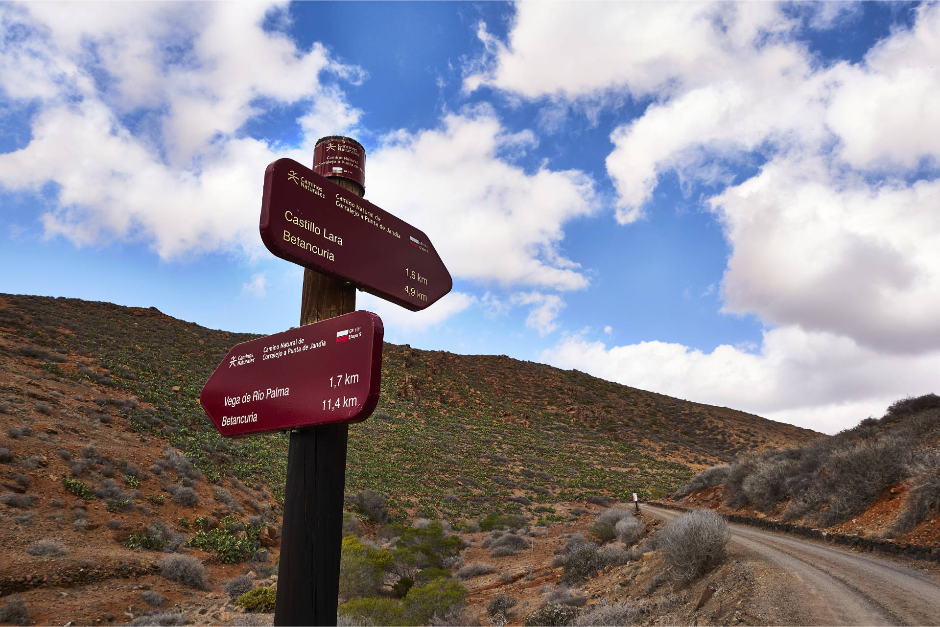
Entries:
[[865, 418], [830, 438], [716, 464], [673, 498], [687, 507], [940, 546], [940, 397], [901, 399], [880, 419]]

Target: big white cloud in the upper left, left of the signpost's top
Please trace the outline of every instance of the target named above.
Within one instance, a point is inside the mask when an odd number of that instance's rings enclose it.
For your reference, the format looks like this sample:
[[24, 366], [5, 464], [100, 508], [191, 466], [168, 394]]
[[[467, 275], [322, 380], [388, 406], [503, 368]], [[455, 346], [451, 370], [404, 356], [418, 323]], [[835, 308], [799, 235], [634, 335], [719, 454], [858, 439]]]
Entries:
[[[19, 36], [0, 43], [0, 91], [36, 106], [32, 137], [0, 154], [0, 186], [57, 198], [48, 236], [77, 245], [146, 243], [164, 259], [215, 250], [258, 254], [263, 166], [305, 161], [323, 129], [358, 111], [330, 81], [361, 72], [262, 23], [264, 3], [5, 4]], [[325, 80], [329, 79], [329, 80]], [[324, 82], [325, 80], [325, 82]], [[301, 149], [240, 133], [266, 108], [302, 103]], [[276, 150], [276, 153], [275, 153]]]

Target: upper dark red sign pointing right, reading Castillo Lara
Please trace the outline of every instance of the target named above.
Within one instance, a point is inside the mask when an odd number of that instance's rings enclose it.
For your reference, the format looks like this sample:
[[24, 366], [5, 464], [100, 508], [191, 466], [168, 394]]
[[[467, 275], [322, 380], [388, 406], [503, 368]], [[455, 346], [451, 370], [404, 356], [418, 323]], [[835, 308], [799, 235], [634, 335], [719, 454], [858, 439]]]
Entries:
[[453, 287], [422, 231], [292, 159], [268, 165], [260, 229], [277, 257], [412, 311]]

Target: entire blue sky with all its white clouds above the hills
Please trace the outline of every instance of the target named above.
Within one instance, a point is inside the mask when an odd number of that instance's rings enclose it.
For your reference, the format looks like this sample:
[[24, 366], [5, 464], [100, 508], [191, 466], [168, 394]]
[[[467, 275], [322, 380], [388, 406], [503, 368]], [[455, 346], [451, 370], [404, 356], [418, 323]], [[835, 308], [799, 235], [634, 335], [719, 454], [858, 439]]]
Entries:
[[940, 371], [940, 6], [0, 5], [0, 290], [297, 323], [324, 134], [454, 290], [386, 339], [833, 432]]

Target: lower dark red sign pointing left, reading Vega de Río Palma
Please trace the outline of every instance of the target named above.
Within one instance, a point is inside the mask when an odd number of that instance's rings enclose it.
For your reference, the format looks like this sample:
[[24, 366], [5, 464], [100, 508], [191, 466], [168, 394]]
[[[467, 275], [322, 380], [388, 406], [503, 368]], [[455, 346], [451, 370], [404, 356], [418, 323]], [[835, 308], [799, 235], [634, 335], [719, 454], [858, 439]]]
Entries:
[[199, 403], [223, 435], [368, 418], [379, 401], [382, 320], [353, 311], [237, 345]]

